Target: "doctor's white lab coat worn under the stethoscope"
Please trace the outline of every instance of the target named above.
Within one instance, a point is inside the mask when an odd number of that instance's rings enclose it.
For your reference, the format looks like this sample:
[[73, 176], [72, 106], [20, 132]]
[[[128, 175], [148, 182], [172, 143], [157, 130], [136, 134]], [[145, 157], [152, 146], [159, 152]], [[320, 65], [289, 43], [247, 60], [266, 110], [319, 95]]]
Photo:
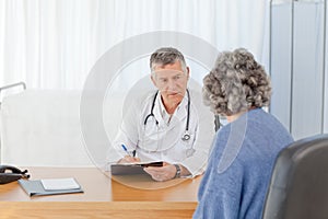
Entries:
[[[181, 138], [186, 132], [188, 117], [187, 93], [171, 117], [169, 123], [167, 123], [168, 118], [165, 116], [159, 93], [153, 108], [154, 116], [150, 116], [147, 125], [144, 125], [147, 116], [151, 113], [155, 93], [156, 91], [151, 91], [147, 95], [133, 100], [128, 112], [124, 115], [118, 134], [108, 150], [108, 163], [117, 162], [127, 154], [121, 147], [125, 145], [130, 153], [137, 150], [137, 157], [142, 162], [180, 163], [189, 170], [192, 176], [202, 173], [214, 137], [214, 115], [209, 107], [202, 104], [201, 93], [189, 90], [188, 132], [190, 139], [185, 141]], [[155, 119], [159, 122], [157, 125]]]

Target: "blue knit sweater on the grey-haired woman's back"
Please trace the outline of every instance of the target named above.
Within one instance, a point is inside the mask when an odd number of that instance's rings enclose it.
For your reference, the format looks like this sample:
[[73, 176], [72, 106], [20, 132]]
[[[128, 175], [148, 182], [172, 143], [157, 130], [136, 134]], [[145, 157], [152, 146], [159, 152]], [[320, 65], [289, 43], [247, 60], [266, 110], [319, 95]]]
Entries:
[[194, 217], [260, 218], [274, 160], [292, 141], [286, 129], [260, 108], [223, 127], [212, 148]]

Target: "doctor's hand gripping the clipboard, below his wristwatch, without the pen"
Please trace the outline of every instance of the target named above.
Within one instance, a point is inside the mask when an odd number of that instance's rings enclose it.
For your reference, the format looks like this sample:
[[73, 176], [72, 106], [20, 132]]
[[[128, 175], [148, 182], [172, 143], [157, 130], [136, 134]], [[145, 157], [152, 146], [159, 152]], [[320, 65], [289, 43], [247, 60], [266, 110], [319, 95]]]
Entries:
[[176, 174], [175, 165], [165, 162], [163, 166], [148, 166], [143, 170], [150, 174], [154, 181], [168, 181], [174, 178]]

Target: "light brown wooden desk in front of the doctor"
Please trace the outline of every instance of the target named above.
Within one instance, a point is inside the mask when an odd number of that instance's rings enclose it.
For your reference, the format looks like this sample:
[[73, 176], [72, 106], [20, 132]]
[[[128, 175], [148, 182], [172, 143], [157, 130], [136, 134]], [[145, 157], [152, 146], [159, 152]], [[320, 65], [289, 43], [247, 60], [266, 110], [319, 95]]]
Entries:
[[[120, 178], [130, 185], [127, 186], [95, 168], [27, 170], [31, 180], [73, 176], [84, 193], [30, 197], [17, 182], [0, 185], [0, 218], [191, 218], [201, 178], [169, 182], [141, 178], [132, 184], [133, 178]], [[142, 186], [151, 189], [140, 189]]]

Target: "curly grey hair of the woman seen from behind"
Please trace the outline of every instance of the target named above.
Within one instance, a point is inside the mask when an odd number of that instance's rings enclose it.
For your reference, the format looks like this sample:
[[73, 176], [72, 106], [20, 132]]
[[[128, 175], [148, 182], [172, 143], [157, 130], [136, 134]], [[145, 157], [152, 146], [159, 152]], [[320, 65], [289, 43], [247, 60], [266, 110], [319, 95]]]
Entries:
[[244, 48], [223, 51], [203, 78], [203, 102], [214, 114], [231, 116], [268, 106], [271, 84], [262, 66]]

